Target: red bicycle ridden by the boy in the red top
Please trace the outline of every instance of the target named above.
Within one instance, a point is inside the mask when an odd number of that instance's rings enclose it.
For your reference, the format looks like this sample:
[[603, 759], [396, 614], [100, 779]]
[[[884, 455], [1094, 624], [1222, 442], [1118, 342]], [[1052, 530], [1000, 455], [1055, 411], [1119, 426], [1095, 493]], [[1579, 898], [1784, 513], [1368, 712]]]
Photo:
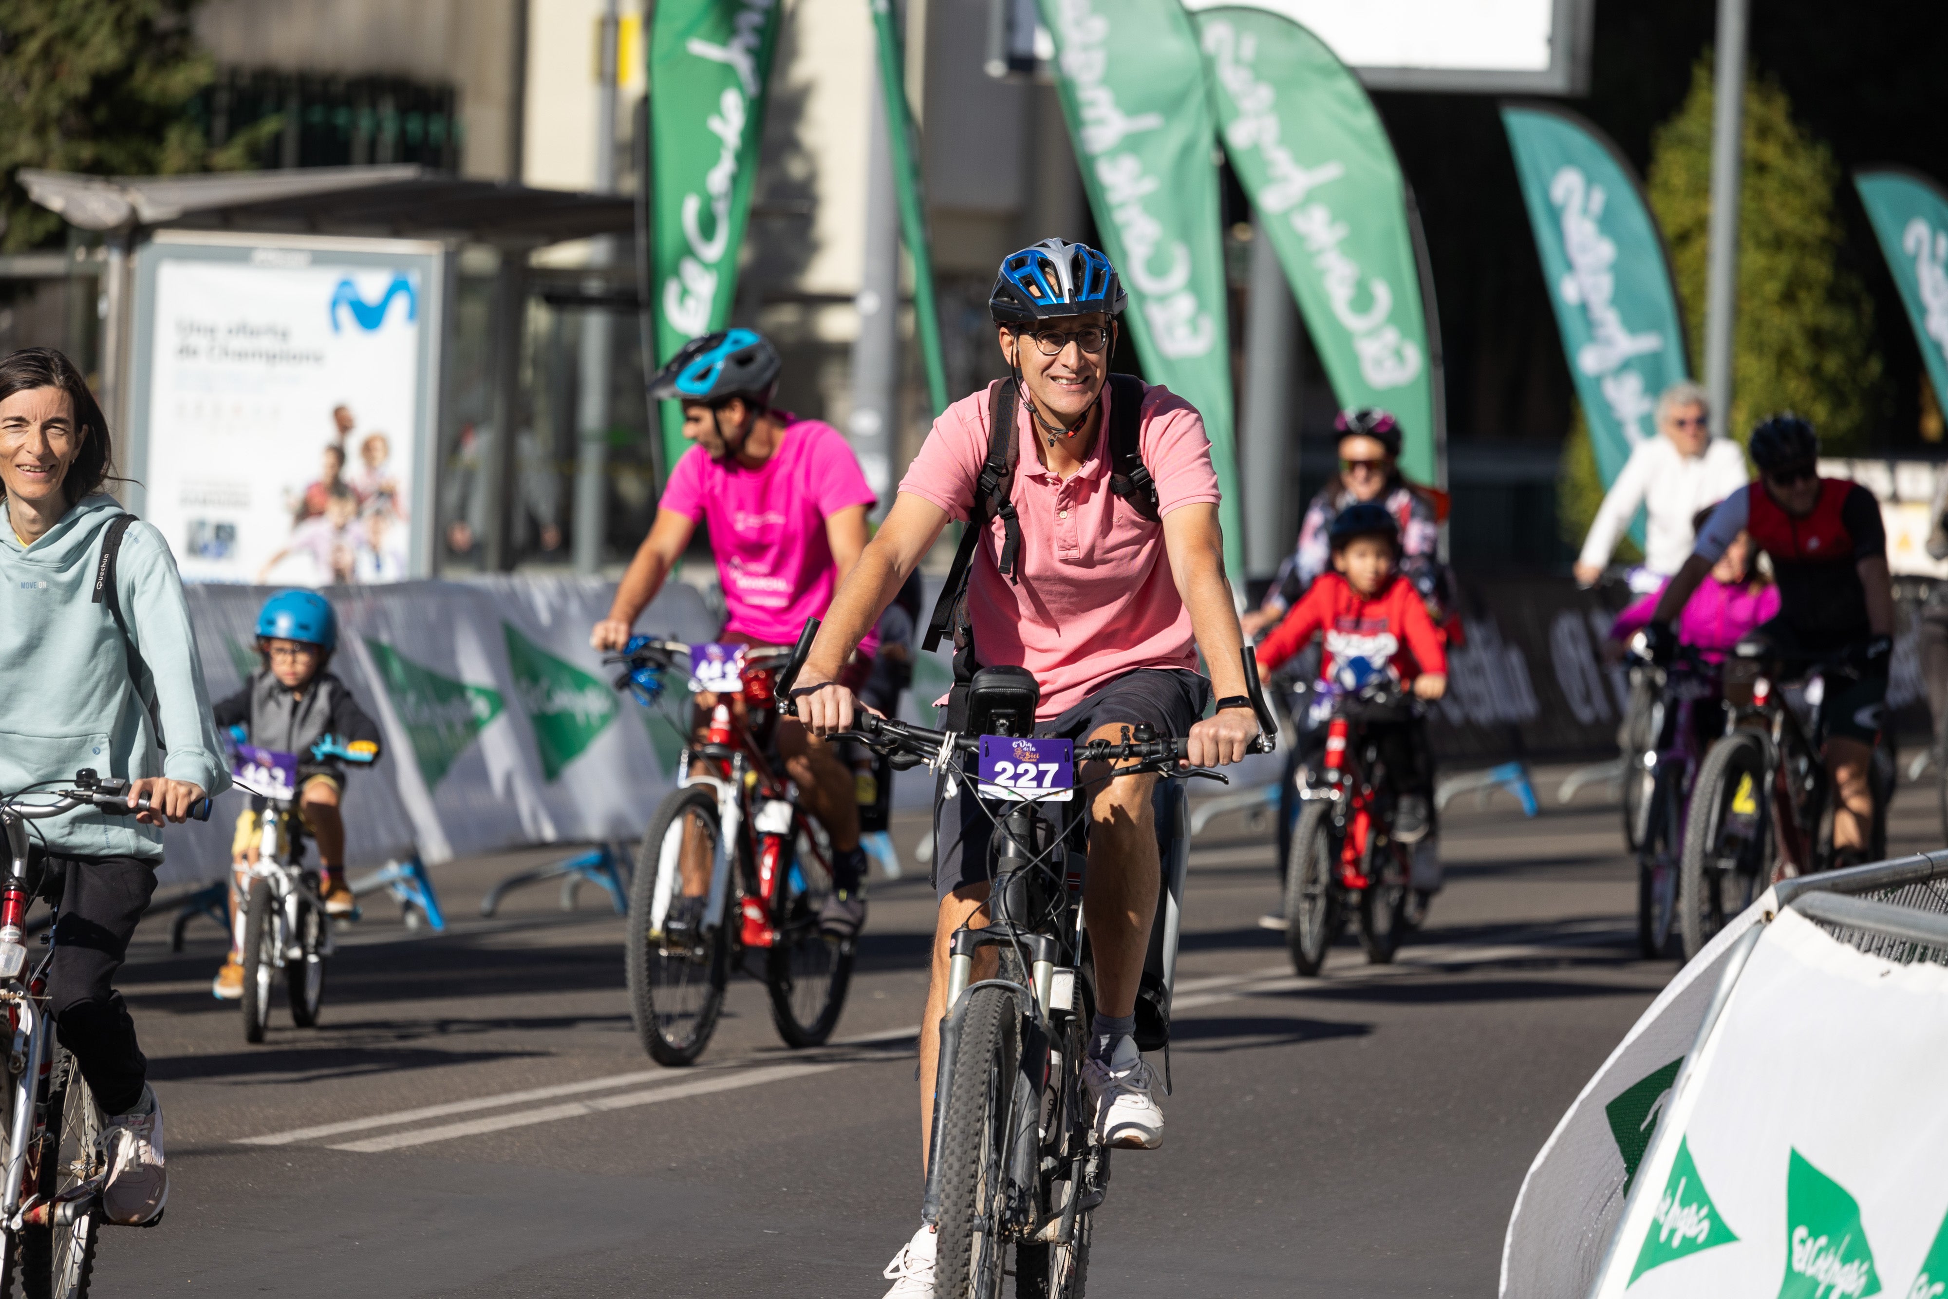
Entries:
[[1350, 915], [1360, 917], [1366, 958], [1393, 960], [1414, 857], [1393, 837], [1399, 795], [1367, 732], [1373, 723], [1410, 719], [1412, 699], [1391, 674], [1327, 691], [1315, 705], [1315, 717], [1330, 709], [1325, 760], [1305, 773], [1286, 863], [1286, 943], [1303, 976], [1319, 974]]

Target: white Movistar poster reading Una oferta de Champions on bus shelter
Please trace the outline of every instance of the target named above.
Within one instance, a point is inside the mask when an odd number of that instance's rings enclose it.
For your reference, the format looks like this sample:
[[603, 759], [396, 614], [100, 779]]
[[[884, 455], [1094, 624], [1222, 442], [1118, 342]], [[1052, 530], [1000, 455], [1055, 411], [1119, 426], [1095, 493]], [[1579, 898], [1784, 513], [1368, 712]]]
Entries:
[[129, 504], [185, 578], [425, 576], [442, 282], [436, 243], [142, 249]]

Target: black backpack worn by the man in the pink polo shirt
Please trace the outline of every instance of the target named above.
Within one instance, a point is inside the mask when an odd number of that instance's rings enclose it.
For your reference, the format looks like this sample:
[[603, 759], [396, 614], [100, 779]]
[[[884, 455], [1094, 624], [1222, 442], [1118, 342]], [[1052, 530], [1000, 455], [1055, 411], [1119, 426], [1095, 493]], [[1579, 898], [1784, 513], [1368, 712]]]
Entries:
[[[1110, 473], [1108, 489], [1122, 497], [1124, 504], [1149, 522], [1159, 522], [1157, 483], [1143, 465], [1140, 446], [1143, 421], [1143, 380], [1134, 374], [1110, 374], [1108, 438]], [[1021, 557], [1021, 524], [1015, 516], [1015, 465], [1021, 462], [1021, 436], [1015, 428], [1015, 411], [1021, 395], [1015, 380], [1003, 380], [988, 390], [988, 460], [980, 467], [980, 481], [974, 487], [974, 501], [968, 508], [968, 522], [960, 530], [960, 547], [955, 551], [955, 565], [947, 571], [947, 586], [933, 604], [933, 617], [927, 623], [927, 637], [921, 649], [933, 652], [941, 645], [947, 629], [955, 629], [955, 703], [966, 695], [966, 684], [974, 680], [980, 664], [974, 658], [974, 629], [966, 617], [968, 575], [974, 569], [974, 549], [988, 536], [988, 524], [1001, 520], [1005, 530], [1001, 555], [995, 567], [1009, 582], [1021, 582], [1015, 563]], [[953, 719], [949, 721], [953, 724]]]

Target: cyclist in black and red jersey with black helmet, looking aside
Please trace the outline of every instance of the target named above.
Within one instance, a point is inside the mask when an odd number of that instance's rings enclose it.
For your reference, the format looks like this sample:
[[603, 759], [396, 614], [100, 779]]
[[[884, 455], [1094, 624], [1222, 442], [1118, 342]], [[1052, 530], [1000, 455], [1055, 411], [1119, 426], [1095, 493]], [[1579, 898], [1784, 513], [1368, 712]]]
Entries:
[[1775, 415], [1751, 430], [1759, 481], [1724, 499], [1697, 547], [1664, 588], [1650, 625], [1652, 656], [1669, 662], [1671, 619], [1740, 532], [1773, 559], [1779, 617], [1753, 637], [1788, 662], [1845, 658], [1853, 680], [1827, 682], [1825, 763], [1839, 791], [1835, 859], [1858, 859], [1874, 822], [1868, 763], [1888, 699], [1893, 654], [1893, 584], [1880, 502], [1866, 487], [1819, 477], [1819, 438], [1796, 415]]

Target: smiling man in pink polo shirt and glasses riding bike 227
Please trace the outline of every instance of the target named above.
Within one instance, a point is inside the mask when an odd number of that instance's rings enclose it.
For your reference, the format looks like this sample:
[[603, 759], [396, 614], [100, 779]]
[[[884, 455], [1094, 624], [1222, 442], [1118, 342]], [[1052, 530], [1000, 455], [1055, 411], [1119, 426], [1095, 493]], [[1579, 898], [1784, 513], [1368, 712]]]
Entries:
[[[980, 664], [1023, 666], [1040, 682], [1038, 734], [1114, 742], [1124, 726], [1147, 723], [1157, 734], [1188, 736], [1192, 763], [1239, 761], [1258, 724], [1245, 701], [1243, 635], [1223, 573], [1218, 475], [1190, 403], [1165, 388], [1142, 391], [1138, 446], [1155, 481], [1157, 520], [1110, 491], [1108, 360], [1122, 308], [1116, 271], [1087, 245], [1044, 240], [1001, 263], [990, 312], [1021, 391], [1009, 493], [1019, 538], [1011, 543], [1005, 516], [990, 524], [968, 580], [968, 625]], [[968, 518], [988, 458], [992, 397], [993, 390], [978, 391], [941, 415], [886, 522], [840, 584], [793, 691], [814, 732], [851, 724], [853, 691], [840, 678], [853, 645], [947, 522]], [[1200, 647], [1216, 682], [1196, 674]], [[1214, 684], [1219, 709], [1200, 721]], [[1132, 1036], [1161, 878], [1151, 812], [1157, 779], [1106, 781], [1093, 797], [1083, 898], [1097, 972], [1083, 1079], [1103, 1139], [1138, 1149], [1163, 1141], [1155, 1079]], [[947, 945], [962, 925], [988, 923], [990, 832], [976, 798], [937, 804], [941, 902], [921, 1017], [921, 1170], [947, 1009]], [[933, 1256], [931, 1229], [921, 1227], [886, 1268], [888, 1299], [933, 1295]]]

